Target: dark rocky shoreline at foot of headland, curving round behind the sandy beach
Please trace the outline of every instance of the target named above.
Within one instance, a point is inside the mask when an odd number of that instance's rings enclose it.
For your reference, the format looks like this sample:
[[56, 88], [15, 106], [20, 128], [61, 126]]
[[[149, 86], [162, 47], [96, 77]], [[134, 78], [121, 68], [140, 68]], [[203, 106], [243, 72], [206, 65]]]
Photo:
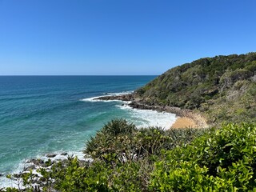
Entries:
[[[95, 98], [95, 100], [120, 100], [124, 102], [128, 102], [128, 106], [139, 109], [139, 110], [156, 110], [158, 112], [167, 112], [171, 114], [176, 114], [180, 118], [190, 118], [191, 121], [196, 125], [195, 128], [206, 128], [208, 124], [206, 119], [202, 117], [202, 114], [195, 113], [192, 110], [184, 110], [179, 107], [174, 106], [159, 106], [156, 103], [146, 102], [142, 98], [136, 97], [135, 94], [122, 94], [122, 95], [114, 95], [114, 96], [102, 96]], [[125, 105], [125, 104], [123, 104]]]

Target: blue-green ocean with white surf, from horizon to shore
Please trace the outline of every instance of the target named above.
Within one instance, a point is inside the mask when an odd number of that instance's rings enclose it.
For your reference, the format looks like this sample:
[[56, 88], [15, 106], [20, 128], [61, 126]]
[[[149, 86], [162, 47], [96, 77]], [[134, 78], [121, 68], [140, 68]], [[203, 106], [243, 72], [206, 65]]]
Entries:
[[174, 114], [93, 100], [131, 93], [155, 77], [0, 76], [0, 174], [18, 172], [26, 159], [50, 153], [81, 155], [86, 141], [113, 118], [138, 127], [170, 126]]

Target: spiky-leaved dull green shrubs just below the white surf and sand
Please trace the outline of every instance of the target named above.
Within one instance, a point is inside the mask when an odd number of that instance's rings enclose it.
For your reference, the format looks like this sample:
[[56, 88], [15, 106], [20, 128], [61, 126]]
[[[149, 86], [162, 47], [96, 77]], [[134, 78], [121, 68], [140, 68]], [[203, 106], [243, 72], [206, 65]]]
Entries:
[[138, 161], [162, 150], [191, 142], [203, 133], [200, 129], [162, 130], [158, 127], [136, 129], [125, 119], [114, 119], [86, 143], [86, 154], [110, 163]]

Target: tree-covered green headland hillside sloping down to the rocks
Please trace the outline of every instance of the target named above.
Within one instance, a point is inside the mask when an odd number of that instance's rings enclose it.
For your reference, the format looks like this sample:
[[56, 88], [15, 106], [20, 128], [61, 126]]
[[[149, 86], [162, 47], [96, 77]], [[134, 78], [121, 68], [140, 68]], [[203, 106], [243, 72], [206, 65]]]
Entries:
[[255, 121], [256, 53], [201, 58], [136, 91], [142, 101], [198, 110], [209, 123]]

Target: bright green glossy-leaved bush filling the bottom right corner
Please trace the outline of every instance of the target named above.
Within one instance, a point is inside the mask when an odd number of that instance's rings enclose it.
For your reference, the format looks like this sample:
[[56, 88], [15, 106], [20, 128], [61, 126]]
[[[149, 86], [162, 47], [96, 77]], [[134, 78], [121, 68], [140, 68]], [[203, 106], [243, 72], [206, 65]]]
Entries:
[[156, 162], [156, 191], [256, 191], [256, 126], [230, 124]]

